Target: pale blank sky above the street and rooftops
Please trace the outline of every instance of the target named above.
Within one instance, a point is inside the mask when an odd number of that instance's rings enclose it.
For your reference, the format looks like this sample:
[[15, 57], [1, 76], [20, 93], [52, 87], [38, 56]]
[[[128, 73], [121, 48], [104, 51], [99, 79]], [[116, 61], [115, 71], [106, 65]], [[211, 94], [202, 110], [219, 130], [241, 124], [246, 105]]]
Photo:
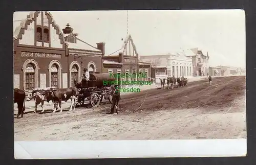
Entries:
[[[208, 51], [210, 66], [245, 67], [243, 10], [130, 10], [128, 21], [127, 11], [50, 12], [61, 29], [70, 23], [83, 41], [105, 42], [105, 55], [121, 49], [128, 29], [140, 56], [199, 48]], [[14, 28], [28, 14], [15, 12]]]

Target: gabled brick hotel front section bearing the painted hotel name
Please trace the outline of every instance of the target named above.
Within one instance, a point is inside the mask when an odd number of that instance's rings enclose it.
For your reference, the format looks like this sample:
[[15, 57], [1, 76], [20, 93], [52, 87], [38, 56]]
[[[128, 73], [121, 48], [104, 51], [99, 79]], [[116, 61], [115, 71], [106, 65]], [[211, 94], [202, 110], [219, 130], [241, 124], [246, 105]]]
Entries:
[[13, 33], [14, 88], [68, 86], [68, 44], [50, 12], [36, 11]]

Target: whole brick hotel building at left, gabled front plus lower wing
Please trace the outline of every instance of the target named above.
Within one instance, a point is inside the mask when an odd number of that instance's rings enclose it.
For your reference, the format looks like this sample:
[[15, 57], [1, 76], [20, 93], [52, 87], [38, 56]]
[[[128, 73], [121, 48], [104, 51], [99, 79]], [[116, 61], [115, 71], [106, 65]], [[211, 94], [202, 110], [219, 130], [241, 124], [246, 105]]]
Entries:
[[30, 12], [19, 22], [13, 32], [14, 88], [66, 88], [83, 68], [102, 73], [102, 50], [78, 38], [69, 25], [62, 31], [48, 11]]

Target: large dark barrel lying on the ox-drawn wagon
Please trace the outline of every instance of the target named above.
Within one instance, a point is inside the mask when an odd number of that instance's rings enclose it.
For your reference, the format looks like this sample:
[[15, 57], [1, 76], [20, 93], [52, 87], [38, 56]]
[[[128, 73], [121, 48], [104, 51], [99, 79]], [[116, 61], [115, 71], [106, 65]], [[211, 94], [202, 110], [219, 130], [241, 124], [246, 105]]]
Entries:
[[82, 79], [81, 84], [77, 84], [76, 87], [80, 88], [103, 88], [110, 87], [113, 85], [112, 83], [115, 81], [115, 78], [110, 76], [108, 73], [102, 74], [90, 74], [90, 81], [86, 81], [86, 79]]

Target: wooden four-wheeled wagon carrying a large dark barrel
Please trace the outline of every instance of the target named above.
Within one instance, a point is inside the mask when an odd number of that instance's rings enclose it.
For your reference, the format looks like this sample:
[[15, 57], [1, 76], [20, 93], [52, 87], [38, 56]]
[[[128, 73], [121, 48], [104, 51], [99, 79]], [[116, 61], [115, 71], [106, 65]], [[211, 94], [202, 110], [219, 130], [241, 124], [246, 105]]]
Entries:
[[115, 81], [109, 74], [90, 74], [90, 80], [82, 79], [76, 83], [78, 93], [76, 94], [76, 105], [81, 106], [84, 101], [89, 101], [92, 107], [97, 107], [102, 99], [109, 100], [112, 103], [113, 86], [110, 84], [104, 85], [103, 81]]

